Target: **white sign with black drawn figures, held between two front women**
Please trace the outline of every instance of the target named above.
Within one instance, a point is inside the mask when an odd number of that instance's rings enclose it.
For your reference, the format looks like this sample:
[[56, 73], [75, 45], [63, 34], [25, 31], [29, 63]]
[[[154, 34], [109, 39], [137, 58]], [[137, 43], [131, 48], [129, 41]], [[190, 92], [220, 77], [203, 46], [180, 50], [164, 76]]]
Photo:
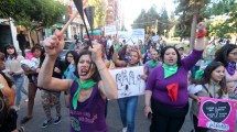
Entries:
[[110, 69], [109, 73], [118, 86], [118, 98], [144, 94], [143, 66]]

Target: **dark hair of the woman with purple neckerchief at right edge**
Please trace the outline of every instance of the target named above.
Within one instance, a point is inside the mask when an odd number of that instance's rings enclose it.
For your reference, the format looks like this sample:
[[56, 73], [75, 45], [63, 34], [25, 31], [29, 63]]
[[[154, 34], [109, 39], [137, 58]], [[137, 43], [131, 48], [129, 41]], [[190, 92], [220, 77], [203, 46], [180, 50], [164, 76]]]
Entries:
[[222, 48], [219, 48], [215, 54], [215, 62], [222, 62], [225, 67], [228, 65], [228, 55], [229, 53], [237, 48], [237, 45], [226, 44]]

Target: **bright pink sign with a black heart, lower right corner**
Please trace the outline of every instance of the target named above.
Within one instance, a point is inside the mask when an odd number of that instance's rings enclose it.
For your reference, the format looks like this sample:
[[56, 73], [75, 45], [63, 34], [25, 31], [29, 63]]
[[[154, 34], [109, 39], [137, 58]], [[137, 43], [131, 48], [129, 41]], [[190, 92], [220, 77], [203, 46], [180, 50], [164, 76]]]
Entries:
[[236, 101], [201, 97], [198, 127], [235, 132]]

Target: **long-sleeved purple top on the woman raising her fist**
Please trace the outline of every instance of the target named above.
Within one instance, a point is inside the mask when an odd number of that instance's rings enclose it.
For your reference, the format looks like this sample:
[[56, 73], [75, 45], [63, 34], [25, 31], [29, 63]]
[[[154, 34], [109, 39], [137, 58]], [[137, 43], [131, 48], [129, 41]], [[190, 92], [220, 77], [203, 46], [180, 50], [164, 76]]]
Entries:
[[[146, 90], [152, 91], [152, 98], [161, 103], [182, 108], [187, 105], [187, 73], [201, 58], [203, 51], [193, 50], [193, 52], [182, 59], [182, 66], [177, 73], [169, 78], [164, 78], [164, 69], [162, 65], [157, 66], [148, 77]], [[177, 99], [172, 101], [168, 96], [166, 86], [179, 84]]]

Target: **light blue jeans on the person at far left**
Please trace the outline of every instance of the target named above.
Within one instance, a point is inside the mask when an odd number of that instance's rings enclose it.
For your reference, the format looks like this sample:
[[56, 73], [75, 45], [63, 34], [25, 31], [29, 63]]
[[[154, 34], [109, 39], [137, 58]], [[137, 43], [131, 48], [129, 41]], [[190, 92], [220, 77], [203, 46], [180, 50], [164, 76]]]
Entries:
[[15, 75], [12, 76], [12, 80], [15, 85], [15, 105], [19, 107], [21, 103], [21, 91], [28, 96], [28, 91], [23, 88], [24, 85], [24, 76], [23, 75]]

